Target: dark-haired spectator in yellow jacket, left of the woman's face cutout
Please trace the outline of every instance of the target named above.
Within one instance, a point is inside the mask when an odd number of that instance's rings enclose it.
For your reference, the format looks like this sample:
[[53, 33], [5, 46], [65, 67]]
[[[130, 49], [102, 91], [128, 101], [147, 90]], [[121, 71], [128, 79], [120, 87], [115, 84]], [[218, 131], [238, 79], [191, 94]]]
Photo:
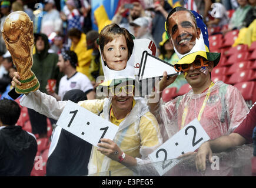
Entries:
[[74, 51], [78, 57], [77, 71], [89, 77], [89, 66], [91, 63], [92, 49], [87, 49], [85, 33], [79, 29], [72, 28], [68, 31], [68, 37], [71, 39], [70, 50]]

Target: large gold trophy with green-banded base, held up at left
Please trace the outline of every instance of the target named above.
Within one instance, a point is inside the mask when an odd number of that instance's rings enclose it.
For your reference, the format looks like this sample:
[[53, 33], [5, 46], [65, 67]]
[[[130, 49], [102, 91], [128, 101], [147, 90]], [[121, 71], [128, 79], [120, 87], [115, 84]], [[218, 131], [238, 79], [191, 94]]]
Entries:
[[23, 11], [9, 14], [2, 28], [6, 48], [12, 55], [21, 79], [21, 85], [15, 86], [16, 93], [33, 92], [39, 88], [39, 82], [31, 71], [33, 65], [34, 33], [33, 22]]

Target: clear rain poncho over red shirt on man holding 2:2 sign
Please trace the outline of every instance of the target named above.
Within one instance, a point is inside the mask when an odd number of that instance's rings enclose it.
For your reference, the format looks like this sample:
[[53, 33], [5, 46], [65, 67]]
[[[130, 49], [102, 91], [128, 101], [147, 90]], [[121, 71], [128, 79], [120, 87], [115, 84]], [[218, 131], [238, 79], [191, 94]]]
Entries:
[[[208, 100], [205, 102], [207, 95]], [[204, 103], [205, 107], [202, 108]], [[237, 88], [218, 81], [201, 94], [195, 94], [191, 89], [167, 103], [161, 99], [154, 115], [165, 142], [195, 118], [200, 121], [210, 139], [227, 135], [240, 125], [248, 110]]]

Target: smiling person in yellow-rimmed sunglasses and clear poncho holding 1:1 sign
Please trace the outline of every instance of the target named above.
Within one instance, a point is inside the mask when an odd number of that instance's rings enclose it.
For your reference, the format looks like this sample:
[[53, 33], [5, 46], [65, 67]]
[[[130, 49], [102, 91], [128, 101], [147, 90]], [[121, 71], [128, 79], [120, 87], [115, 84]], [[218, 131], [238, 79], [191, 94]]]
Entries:
[[[21, 84], [18, 72], [12, 85]], [[78, 102], [83, 108], [119, 126], [114, 140], [101, 139], [99, 147], [92, 146], [88, 174], [109, 173], [111, 176], [131, 176], [126, 167], [148, 162], [147, 156], [162, 144], [159, 125], [147, 105], [134, 98], [135, 80], [114, 79], [107, 88], [108, 98]], [[58, 119], [67, 101], [56, 101], [52, 96], [36, 90], [22, 97], [21, 105], [32, 108], [53, 119]], [[54, 143], [51, 143], [54, 145]], [[47, 173], [47, 172], [46, 172]]]

